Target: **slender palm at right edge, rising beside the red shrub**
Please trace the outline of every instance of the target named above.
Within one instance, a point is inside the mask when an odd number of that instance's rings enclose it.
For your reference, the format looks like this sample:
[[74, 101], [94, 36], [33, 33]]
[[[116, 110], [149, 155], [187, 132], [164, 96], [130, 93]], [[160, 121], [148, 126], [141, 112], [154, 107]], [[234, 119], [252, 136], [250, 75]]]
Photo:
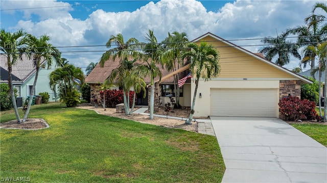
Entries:
[[[327, 42], [319, 43], [316, 47], [315, 46], [308, 46], [307, 49], [310, 49], [317, 57], [319, 60], [319, 68], [315, 69], [319, 71], [319, 85], [320, 85], [320, 77], [321, 77], [321, 71], [324, 70], [325, 72], [325, 85], [327, 83], [327, 70], [326, 70], [326, 64], [327, 64]], [[312, 72], [314, 74], [314, 72]], [[319, 90], [320, 93], [320, 90]], [[327, 106], [327, 90], [324, 92], [324, 106]], [[319, 108], [321, 108], [320, 103], [319, 103]], [[319, 109], [321, 111], [321, 109]], [[326, 114], [324, 113], [323, 115], [323, 120], [326, 121], [327, 117]]]

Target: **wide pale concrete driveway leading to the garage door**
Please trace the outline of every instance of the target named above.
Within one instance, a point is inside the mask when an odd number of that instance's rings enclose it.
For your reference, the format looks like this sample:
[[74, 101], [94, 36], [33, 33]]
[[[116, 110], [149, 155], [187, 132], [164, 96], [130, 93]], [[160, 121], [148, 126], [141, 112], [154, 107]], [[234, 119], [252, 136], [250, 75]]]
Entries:
[[222, 182], [327, 182], [327, 148], [277, 118], [211, 117]]

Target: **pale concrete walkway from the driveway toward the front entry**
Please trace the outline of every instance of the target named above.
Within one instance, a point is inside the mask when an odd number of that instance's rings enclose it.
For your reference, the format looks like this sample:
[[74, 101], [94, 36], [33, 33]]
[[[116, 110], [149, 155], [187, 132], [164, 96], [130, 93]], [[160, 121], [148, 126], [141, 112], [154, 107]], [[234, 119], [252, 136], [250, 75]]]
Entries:
[[[135, 110], [133, 113], [149, 116], [149, 113], [145, 113], [147, 110], [148, 110], [148, 107], [141, 107], [141, 108]], [[161, 117], [161, 118], [179, 119], [179, 120], [183, 120], [183, 121], [186, 121], [186, 119], [188, 119], [188, 118], [167, 116], [167, 115], [158, 115], [158, 114], [154, 114], [153, 116], [157, 116], [157, 117]], [[198, 122], [198, 133], [215, 136], [214, 128], [213, 128], [213, 125], [212, 125], [210, 119], [194, 119], [194, 120], [196, 120]]]

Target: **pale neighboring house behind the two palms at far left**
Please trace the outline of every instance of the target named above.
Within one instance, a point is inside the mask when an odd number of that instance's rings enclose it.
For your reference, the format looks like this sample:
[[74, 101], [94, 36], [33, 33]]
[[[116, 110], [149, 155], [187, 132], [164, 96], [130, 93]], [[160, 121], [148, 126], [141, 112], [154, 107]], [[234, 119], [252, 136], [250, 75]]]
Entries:
[[[45, 61], [42, 63], [44, 64]], [[0, 83], [8, 83], [8, 65], [7, 57], [1, 54], [1, 79]], [[12, 67], [12, 79], [13, 85], [17, 89], [17, 97], [22, 97], [24, 102], [28, 96], [38, 95], [41, 92], [48, 92], [50, 95], [49, 101], [56, 100], [56, 94], [51, 90], [49, 83], [49, 75], [55, 69], [55, 64], [50, 69], [40, 68], [38, 79], [35, 86], [35, 92], [31, 93], [32, 86], [35, 79], [36, 70], [33, 67], [32, 60], [29, 60], [26, 56], [22, 57], [22, 60], [16, 62], [16, 65]]]

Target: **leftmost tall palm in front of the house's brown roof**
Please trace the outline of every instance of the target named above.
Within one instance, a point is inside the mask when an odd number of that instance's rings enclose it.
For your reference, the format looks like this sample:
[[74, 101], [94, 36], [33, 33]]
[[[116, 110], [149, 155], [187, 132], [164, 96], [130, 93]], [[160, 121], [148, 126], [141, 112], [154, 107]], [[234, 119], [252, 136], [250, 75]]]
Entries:
[[103, 67], [104, 63], [110, 58], [113, 61], [115, 61], [116, 58], [120, 59], [119, 67], [121, 68], [117, 70], [114, 69], [115, 73], [113, 74], [111, 73], [112, 75], [109, 77], [111, 77], [110, 81], [113, 82], [116, 79], [116, 77], [118, 77], [117, 74], [119, 74], [119, 81], [120, 84], [123, 86], [123, 90], [124, 90], [125, 114], [128, 115], [129, 106], [127, 106], [127, 103], [129, 103], [129, 101], [127, 101], [126, 93], [129, 93], [130, 88], [127, 88], [126, 84], [124, 83], [124, 76], [127, 76], [128, 74], [123, 72], [121, 69], [127, 66], [124, 64], [128, 64], [128, 59], [130, 58], [130, 56], [132, 56], [133, 58], [137, 57], [138, 51], [136, 51], [135, 49], [139, 47], [139, 42], [135, 38], [130, 38], [127, 40], [127, 42], [124, 42], [124, 36], [122, 34], [117, 34], [116, 36], [114, 35], [110, 36], [109, 40], [106, 43], [107, 48], [110, 48], [112, 44], [115, 44], [116, 47], [107, 50], [106, 53], [104, 53], [100, 58], [99, 64], [100, 67]]

